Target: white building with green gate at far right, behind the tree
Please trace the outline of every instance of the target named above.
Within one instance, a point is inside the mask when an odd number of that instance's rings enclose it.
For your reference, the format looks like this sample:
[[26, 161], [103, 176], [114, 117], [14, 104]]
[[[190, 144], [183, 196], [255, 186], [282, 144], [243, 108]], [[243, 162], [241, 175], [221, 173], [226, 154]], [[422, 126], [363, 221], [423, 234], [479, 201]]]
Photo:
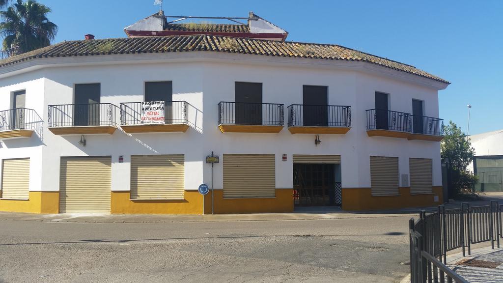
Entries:
[[470, 135], [475, 158], [470, 171], [478, 176], [476, 191], [503, 191], [503, 130]]

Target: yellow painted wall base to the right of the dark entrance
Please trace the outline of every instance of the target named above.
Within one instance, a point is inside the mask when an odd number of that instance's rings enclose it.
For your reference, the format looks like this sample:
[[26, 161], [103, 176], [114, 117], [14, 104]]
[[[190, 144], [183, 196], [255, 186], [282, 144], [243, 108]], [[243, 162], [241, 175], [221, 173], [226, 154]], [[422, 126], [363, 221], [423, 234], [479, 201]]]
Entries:
[[[400, 195], [372, 196], [370, 188], [343, 188], [343, 210], [379, 210], [431, 206], [443, 203], [442, 187], [434, 186], [432, 194], [410, 194], [409, 187], [399, 188]], [[439, 197], [435, 202], [434, 197]]]

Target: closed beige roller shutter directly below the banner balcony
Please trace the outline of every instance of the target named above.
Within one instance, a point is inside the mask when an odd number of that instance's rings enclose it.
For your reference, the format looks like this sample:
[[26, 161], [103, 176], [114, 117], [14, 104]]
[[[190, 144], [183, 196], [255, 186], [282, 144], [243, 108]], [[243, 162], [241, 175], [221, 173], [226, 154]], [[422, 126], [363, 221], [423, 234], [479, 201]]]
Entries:
[[184, 155], [131, 156], [131, 198], [183, 199]]

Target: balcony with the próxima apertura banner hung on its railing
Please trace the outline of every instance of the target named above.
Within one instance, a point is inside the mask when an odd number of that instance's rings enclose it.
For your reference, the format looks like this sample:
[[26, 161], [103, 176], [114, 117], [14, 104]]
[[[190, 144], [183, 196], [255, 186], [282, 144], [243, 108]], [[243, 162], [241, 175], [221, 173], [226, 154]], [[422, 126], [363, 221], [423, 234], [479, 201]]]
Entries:
[[146, 119], [145, 115], [142, 117], [141, 102], [121, 103], [121, 128], [128, 133], [187, 131], [189, 128], [187, 101], [165, 102], [163, 111], [164, 120], [152, 123]]

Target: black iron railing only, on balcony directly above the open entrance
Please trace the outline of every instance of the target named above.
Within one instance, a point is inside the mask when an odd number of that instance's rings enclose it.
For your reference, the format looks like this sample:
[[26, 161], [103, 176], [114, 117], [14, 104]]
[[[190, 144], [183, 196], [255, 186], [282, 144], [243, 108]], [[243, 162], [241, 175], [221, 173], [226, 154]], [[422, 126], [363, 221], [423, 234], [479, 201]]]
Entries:
[[288, 106], [288, 126], [351, 127], [351, 106]]

